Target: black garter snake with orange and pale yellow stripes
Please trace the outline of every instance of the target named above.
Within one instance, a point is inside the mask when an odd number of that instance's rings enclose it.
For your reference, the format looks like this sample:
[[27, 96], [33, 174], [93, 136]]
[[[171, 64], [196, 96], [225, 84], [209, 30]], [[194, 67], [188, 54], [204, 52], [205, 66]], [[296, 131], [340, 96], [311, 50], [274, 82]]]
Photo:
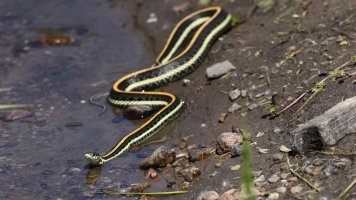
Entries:
[[145, 105], [159, 109], [144, 124], [121, 138], [104, 155], [86, 153], [91, 165], [102, 165], [157, 133], [182, 110], [184, 102], [167, 92], [150, 91], [193, 72], [214, 42], [231, 28], [231, 15], [209, 7], [183, 18], [171, 32], [155, 64], [117, 80], [108, 96], [113, 106]]

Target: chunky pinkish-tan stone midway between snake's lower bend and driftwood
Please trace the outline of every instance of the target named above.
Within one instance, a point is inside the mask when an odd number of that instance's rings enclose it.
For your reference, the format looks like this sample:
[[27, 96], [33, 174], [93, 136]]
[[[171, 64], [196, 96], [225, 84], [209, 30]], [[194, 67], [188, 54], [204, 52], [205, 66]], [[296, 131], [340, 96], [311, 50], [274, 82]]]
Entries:
[[234, 144], [242, 143], [242, 134], [234, 132], [221, 133], [217, 138], [216, 153], [218, 155], [231, 151]]

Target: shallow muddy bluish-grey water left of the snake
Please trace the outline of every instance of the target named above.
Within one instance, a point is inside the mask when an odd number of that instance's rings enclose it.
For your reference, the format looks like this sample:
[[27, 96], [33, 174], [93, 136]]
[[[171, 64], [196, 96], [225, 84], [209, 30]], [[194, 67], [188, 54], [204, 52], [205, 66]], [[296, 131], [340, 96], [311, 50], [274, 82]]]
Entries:
[[[0, 2], [0, 103], [32, 104], [33, 115], [0, 122], [0, 199], [100, 198], [103, 187], [142, 181], [137, 163], [157, 145], [89, 170], [83, 154], [103, 153], [135, 123], [88, 98], [153, 61], [130, 11], [106, 1]], [[42, 31], [41, 31], [42, 30]], [[74, 39], [32, 45], [54, 32]], [[89, 179], [87, 179], [87, 177]], [[95, 177], [97, 177], [95, 179]]]

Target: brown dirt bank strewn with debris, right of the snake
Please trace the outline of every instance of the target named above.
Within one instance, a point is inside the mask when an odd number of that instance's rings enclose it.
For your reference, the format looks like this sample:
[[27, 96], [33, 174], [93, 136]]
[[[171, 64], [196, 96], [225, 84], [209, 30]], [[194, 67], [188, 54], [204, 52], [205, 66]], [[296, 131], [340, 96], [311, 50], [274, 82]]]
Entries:
[[[152, 42], [148, 49], [151, 47], [155, 55], [159, 53], [164, 45], [164, 38], [167, 38], [169, 30], [179, 19], [204, 7], [193, 1], [173, 0], [164, 3], [140, 1], [136, 5], [132, 3], [118, 5], [133, 9], [135, 21]], [[253, 6], [251, 1], [211, 1], [208, 5], [220, 5], [241, 19], [245, 19]], [[180, 10], [181, 7], [183, 9]], [[279, 152], [281, 145], [291, 146], [290, 132], [298, 124], [322, 114], [343, 99], [354, 96], [355, 78], [342, 83], [330, 82], [325, 90], [316, 95], [298, 114], [294, 113], [307, 98], [276, 119], [263, 119], [262, 116], [268, 114], [271, 94], [276, 95], [277, 111], [281, 110], [307, 88], [312, 88], [317, 81], [324, 78], [319, 76], [320, 74], [330, 72], [356, 55], [355, 11], [356, 2], [352, 0], [275, 1], [269, 8], [259, 7], [250, 18], [214, 45], [202, 66], [187, 77], [192, 81], [187, 87], [182, 86], [182, 82], [176, 82], [162, 88], [164, 91], [174, 92], [188, 102], [186, 111], [173, 123], [175, 129], [169, 134], [194, 135], [189, 138], [189, 143], [213, 146], [216, 137], [222, 132], [230, 131], [232, 126], [247, 128], [252, 140], [256, 142], [256, 146], [253, 147], [253, 169], [261, 170], [266, 179], [272, 174], [288, 172], [283, 168], [286, 159], [274, 161], [273, 155]], [[156, 15], [158, 19], [156, 23], [146, 23], [150, 13]], [[286, 59], [288, 52], [298, 53]], [[224, 60], [229, 60], [237, 69], [226, 78], [208, 81], [205, 77], [206, 67]], [[270, 84], [267, 83], [265, 69], [268, 71]], [[240, 97], [235, 101], [238, 104], [245, 105], [246, 102], [250, 102], [262, 105], [248, 111], [246, 116], [242, 115], [245, 111], [241, 110], [230, 113], [224, 123], [218, 123], [220, 114], [227, 113], [232, 105], [226, 92], [235, 88], [247, 89], [251, 97], [249, 99]], [[192, 121], [194, 123], [191, 123]], [[203, 123], [207, 125], [206, 128], [200, 127]], [[282, 131], [279, 133], [275, 128]], [[259, 132], [263, 132], [264, 135], [256, 137]], [[265, 154], [259, 153], [259, 148], [268, 151]], [[337, 197], [355, 179], [355, 136], [346, 137], [336, 149], [352, 156], [308, 154], [289, 157], [298, 172], [322, 188], [316, 195], [300, 181], [287, 183], [278, 181], [261, 187], [267, 192], [274, 192], [276, 188], [286, 186], [287, 192], [280, 194], [280, 199]], [[324, 161], [324, 168], [340, 159], [348, 164], [339, 166], [332, 174], [322, 170], [314, 174], [303, 171], [316, 159]], [[243, 162], [241, 158], [234, 158], [221, 168], [215, 169], [216, 160], [203, 161], [198, 164], [202, 167], [202, 176], [191, 184], [187, 195], [176, 198], [195, 198], [205, 190], [222, 193], [229, 187], [238, 188], [239, 179], [231, 177], [240, 175], [238, 172], [230, 171], [229, 166], [241, 162]], [[212, 171], [217, 171], [218, 175], [208, 177], [207, 173]], [[301, 185], [303, 190], [298, 194], [292, 194], [290, 188], [296, 185]], [[355, 192], [353, 188], [348, 199], [352, 199], [352, 196], [356, 198]]]

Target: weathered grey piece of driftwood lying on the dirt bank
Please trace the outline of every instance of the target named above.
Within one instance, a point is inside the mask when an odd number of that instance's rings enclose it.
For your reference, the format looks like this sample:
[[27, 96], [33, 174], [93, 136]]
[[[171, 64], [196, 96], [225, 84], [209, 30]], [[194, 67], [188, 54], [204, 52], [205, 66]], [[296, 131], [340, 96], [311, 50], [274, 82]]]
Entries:
[[356, 133], [356, 96], [299, 125], [292, 132], [293, 149], [301, 154], [312, 150], [324, 150], [352, 133]]

